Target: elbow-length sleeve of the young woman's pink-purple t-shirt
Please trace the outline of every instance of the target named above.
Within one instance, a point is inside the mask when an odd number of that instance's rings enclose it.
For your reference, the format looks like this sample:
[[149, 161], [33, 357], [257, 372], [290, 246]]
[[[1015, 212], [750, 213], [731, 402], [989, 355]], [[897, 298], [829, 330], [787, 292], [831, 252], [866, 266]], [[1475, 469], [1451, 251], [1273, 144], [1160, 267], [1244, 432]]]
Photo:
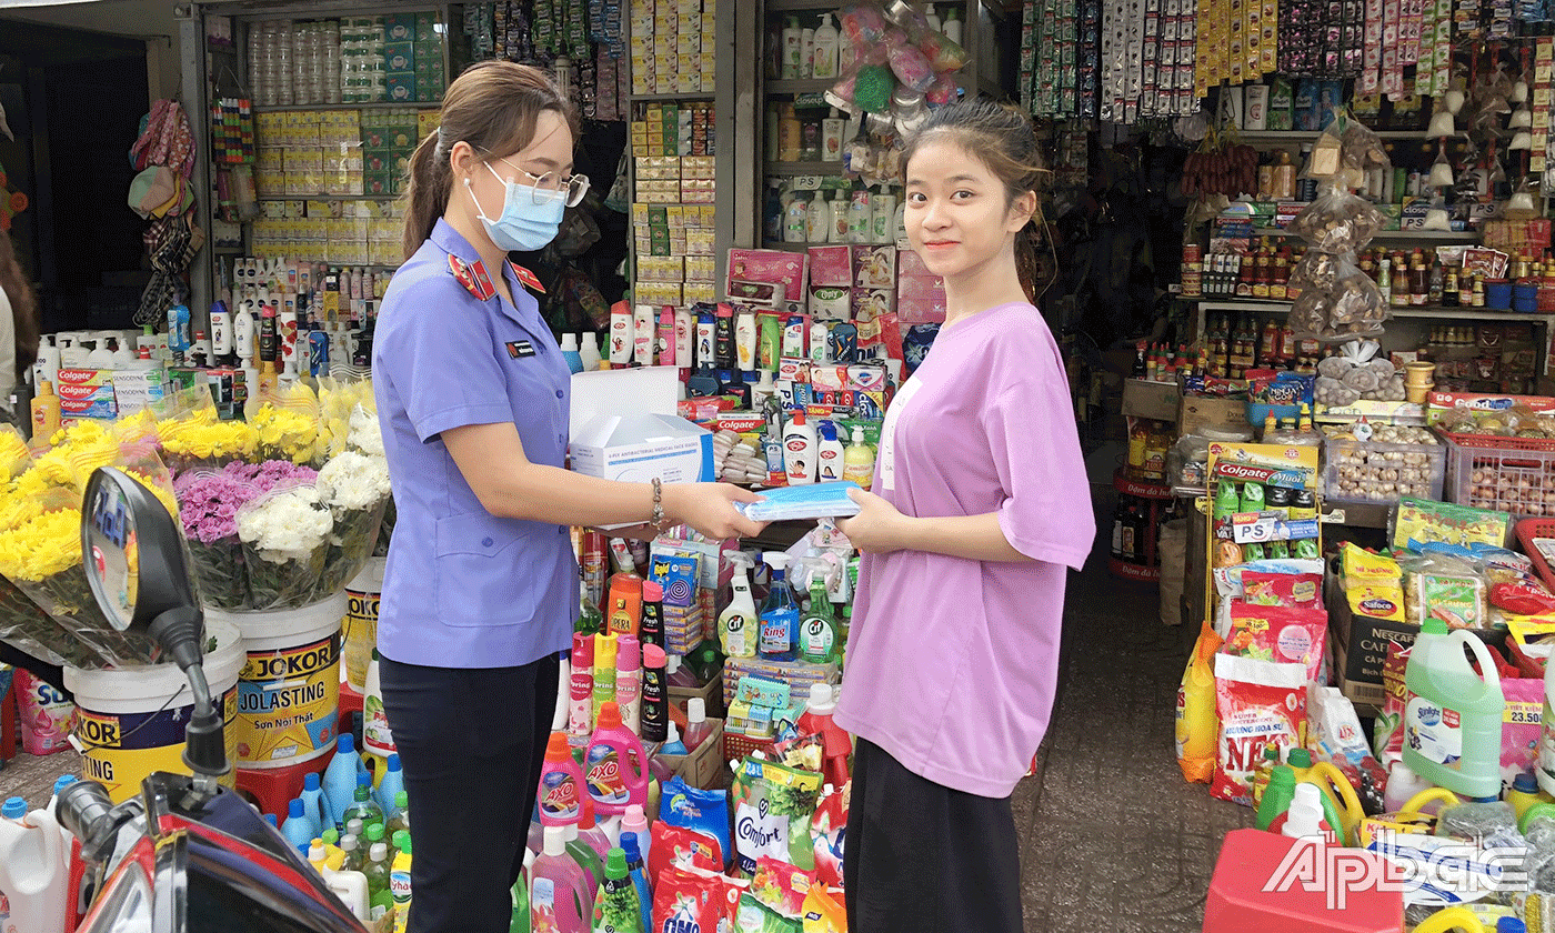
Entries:
[[992, 373], [983, 423], [1005, 491], [998, 527], [1026, 557], [1078, 571], [1095, 516], [1057, 345], [1047, 331], [1022, 333], [995, 355], [1005, 359]]

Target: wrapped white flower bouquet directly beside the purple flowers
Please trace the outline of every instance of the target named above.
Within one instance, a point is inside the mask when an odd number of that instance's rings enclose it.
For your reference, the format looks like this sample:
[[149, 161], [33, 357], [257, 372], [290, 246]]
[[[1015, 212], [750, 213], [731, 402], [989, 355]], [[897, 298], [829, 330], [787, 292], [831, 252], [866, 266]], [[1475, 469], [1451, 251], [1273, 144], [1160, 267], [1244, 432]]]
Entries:
[[238, 540], [255, 610], [316, 602], [334, 518], [313, 484], [278, 487], [238, 510]]

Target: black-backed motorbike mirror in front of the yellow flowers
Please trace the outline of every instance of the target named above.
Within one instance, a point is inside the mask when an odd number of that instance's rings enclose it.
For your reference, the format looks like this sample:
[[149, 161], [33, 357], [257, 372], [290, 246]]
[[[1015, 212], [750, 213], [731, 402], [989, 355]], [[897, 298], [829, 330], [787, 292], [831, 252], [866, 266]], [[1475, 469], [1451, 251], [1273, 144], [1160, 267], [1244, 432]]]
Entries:
[[[149, 630], [163, 613], [197, 605], [173, 516], [112, 466], [96, 468], [87, 480], [81, 557], [98, 608], [120, 631]], [[173, 645], [162, 647], [176, 655]]]

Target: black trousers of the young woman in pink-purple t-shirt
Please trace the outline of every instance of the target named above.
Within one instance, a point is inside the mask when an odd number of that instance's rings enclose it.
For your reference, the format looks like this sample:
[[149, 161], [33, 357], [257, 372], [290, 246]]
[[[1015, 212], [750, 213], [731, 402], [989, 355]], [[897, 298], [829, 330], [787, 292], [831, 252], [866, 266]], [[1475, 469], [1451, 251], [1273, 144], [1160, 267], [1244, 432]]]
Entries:
[[1020, 933], [1009, 798], [952, 790], [860, 739], [843, 854], [849, 933]]

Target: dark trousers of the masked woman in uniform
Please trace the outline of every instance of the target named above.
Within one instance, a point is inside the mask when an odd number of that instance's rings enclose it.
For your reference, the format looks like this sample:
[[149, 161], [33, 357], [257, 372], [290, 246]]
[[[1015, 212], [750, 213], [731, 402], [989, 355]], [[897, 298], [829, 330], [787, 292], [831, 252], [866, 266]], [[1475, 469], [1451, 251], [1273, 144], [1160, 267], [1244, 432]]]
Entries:
[[557, 656], [449, 669], [381, 659], [411, 799], [409, 933], [507, 933], [557, 706]]

